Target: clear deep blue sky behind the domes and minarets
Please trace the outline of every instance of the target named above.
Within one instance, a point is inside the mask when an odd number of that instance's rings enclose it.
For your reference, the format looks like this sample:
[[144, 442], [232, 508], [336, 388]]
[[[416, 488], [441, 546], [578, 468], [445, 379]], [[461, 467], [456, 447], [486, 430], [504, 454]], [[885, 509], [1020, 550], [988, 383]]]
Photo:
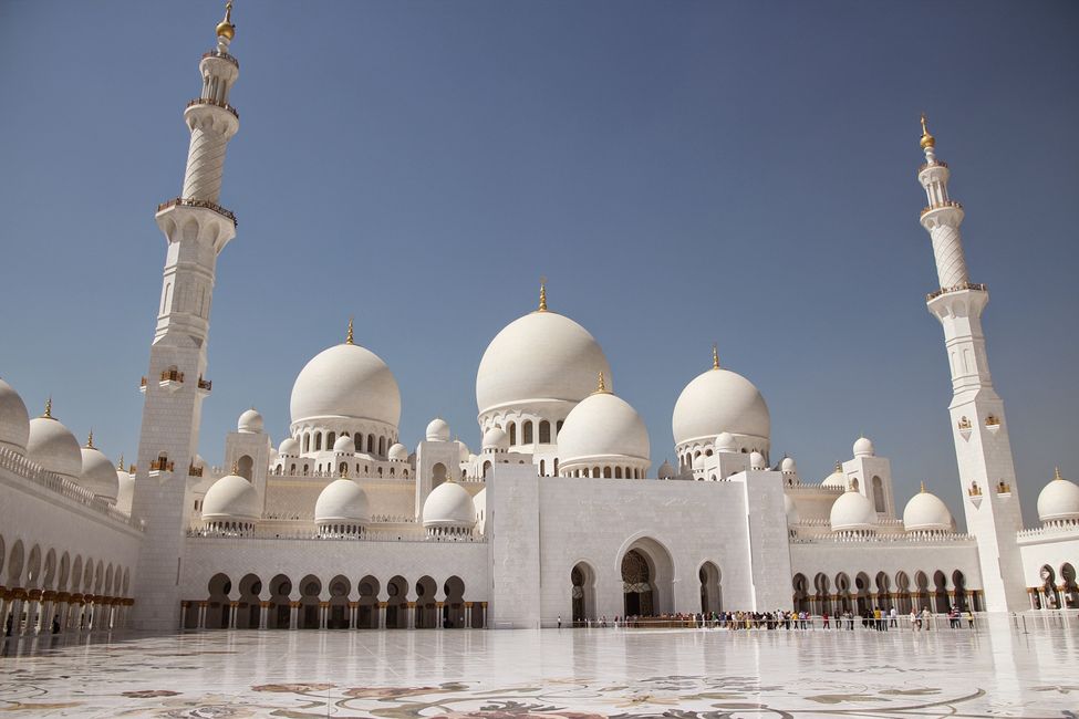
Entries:
[[[0, 375], [112, 457], [136, 449], [185, 103], [222, 3], [0, 2]], [[292, 381], [356, 315], [402, 388], [476, 449], [475, 375], [535, 309], [588, 327], [644, 416], [709, 366], [771, 409], [820, 481], [859, 433], [959, 509], [919, 113], [986, 282], [1028, 522], [1079, 478], [1079, 4], [237, 0], [240, 132], [221, 202], [219, 462], [248, 406], [274, 444]]]

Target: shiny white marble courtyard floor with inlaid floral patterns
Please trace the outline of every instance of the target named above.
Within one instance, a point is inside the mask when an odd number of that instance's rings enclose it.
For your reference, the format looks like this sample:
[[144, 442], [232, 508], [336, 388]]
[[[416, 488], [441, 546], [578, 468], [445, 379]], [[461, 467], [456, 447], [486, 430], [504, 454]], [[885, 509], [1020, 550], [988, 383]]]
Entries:
[[1036, 625], [43, 636], [0, 716], [1079, 719], [1079, 622]]

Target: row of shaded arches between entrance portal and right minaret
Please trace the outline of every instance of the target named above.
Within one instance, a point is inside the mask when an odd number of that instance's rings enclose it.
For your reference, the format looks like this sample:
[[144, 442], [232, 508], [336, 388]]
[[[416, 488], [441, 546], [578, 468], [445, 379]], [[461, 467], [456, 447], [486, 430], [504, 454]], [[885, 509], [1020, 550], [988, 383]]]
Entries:
[[892, 607], [900, 614], [924, 607], [943, 614], [952, 606], [973, 612], [984, 607], [982, 590], [967, 588], [966, 577], [958, 570], [951, 574], [937, 570], [932, 575], [901, 571], [895, 576], [885, 572], [874, 576], [865, 572], [840, 572], [834, 577], [819, 572], [812, 584], [805, 574], [798, 573], [792, 585], [795, 609], [817, 615], [842, 612], [863, 615], [876, 608], [890, 611]]

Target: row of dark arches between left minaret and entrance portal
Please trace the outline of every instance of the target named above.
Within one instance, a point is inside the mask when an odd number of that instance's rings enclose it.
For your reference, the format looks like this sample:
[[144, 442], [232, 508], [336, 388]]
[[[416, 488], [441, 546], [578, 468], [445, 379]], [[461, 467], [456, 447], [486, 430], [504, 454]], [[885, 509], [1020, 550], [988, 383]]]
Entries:
[[[227, 574], [215, 574], [205, 600], [180, 603], [186, 629], [483, 629], [487, 602], [465, 600], [465, 582], [447, 579], [439, 593], [430, 576], [414, 585], [400, 575], [356, 582], [339, 574], [323, 585], [313, 574], [299, 582], [284, 574], [269, 584], [245, 574], [234, 591]], [[415, 600], [409, 600], [409, 592]], [[299, 598], [297, 598], [297, 596]], [[268, 598], [264, 598], [268, 597]]]

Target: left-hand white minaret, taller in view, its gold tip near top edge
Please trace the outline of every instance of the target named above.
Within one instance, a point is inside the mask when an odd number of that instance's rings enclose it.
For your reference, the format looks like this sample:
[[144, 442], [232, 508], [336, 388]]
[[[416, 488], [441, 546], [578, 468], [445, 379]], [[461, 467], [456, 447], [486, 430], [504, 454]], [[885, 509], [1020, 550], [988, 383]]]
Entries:
[[146, 400], [138, 439], [133, 513], [145, 521], [135, 574], [134, 624], [144, 629], [179, 625], [179, 577], [190, 517], [188, 468], [198, 448], [206, 381], [206, 344], [217, 256], [236, 235], [236, 217], [218, 201], [225, 150], [239, 128], [229, 91], [239, 62], [229, 54], [236, 34], [232, 3], [217, 25], [217, 48], [203, 55], [203, 92], [184, 111], [191, 133], [184, 189], [157, 207], [165, 233], [165, 272], [157, 329], [143, 382]]

